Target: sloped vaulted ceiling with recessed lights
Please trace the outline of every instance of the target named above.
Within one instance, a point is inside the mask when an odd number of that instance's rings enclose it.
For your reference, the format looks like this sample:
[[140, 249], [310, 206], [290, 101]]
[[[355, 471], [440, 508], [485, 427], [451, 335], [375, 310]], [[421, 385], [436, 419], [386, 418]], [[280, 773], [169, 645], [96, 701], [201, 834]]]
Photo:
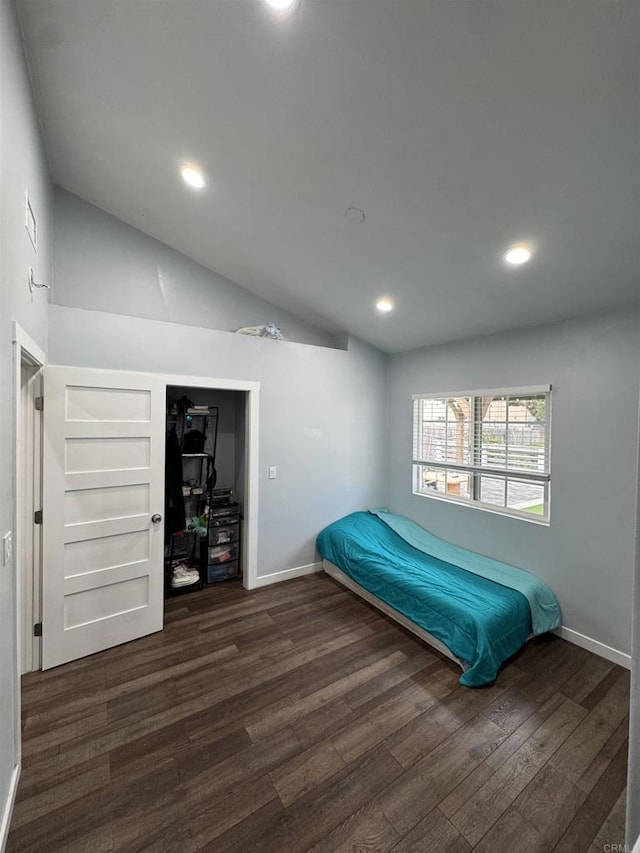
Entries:
[[640, 294], [636, 0], [18, 6], [53, 180], [309, 322], [398, 352]]

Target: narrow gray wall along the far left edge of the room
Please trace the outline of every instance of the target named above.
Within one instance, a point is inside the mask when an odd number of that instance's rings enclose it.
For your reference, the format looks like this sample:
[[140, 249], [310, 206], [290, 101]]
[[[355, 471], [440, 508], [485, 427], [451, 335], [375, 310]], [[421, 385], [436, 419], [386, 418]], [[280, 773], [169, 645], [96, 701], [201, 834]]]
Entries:
[[[18, 26], [10, 0], [0, 0], [0, 535], [14, 528], [14, 443], [11, 322], [47, 346], [47, 292], [33, 296], [27, 267], [50, 281], [51, 187], [35, 118]], [[37, 254], [25, 230], [25, 192], [38, 220]], [[15, 560], [0, 565], [0, 815], [16, 763]]]

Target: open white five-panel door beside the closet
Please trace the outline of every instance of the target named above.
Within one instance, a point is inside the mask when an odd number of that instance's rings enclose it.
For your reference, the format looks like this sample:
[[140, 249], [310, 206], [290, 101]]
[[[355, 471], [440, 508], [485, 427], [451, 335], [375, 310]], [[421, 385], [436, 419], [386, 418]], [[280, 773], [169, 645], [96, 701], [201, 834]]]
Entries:
[[162, 629], [165, 393], [45, 369], [43, 669]]

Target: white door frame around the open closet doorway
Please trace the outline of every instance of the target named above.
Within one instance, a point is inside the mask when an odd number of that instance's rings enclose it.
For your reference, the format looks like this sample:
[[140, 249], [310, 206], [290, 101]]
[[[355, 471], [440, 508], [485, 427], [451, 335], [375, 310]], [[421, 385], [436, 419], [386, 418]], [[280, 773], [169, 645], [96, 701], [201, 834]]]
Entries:
[[241, 564], [245, 589], [258, 585], [258, 487], [260, 435], [260, 382], [243, 379], [219, 379], [206, 376], [161, 374], [166, 387], [178, 385], [207, 391], [244, 391], [245, 403], [245, 467], [244, 521], [242, 524]]

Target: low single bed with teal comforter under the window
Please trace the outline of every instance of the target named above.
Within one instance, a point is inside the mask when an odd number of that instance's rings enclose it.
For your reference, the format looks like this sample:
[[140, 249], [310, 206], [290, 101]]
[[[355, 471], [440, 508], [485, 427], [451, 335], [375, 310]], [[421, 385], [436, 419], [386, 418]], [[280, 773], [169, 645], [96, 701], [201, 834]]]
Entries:
[[317, 547], [329, 575], [456, 661], [467, 687], [491, 684], [529, 637], [562, 621], [539, 578], [387, 510], [339, 519]]

